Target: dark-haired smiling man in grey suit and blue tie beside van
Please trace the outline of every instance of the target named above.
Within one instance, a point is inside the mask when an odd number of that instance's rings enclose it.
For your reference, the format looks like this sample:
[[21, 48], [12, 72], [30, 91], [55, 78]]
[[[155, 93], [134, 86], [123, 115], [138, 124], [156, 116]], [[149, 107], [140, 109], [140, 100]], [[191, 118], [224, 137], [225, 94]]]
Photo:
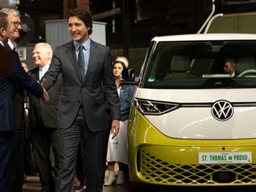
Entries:
[[112, 73], [112, 56], [108, 47], [89, 37], [92, 34], [90, 12], [69, 11], [68, 31], [73, 40], [55, 49], [51, 66], [43, 77], [48, 89], [60, 72], [63, 78], [58, 108], [60, 171], [57, 191], [74, 190], [76, 155], [81, 136], [84, 139], [85, 190], [100, 192], [102, 142], [108, 123], [106, 100], [113, 119], [113, 137], [119, 132], [120, 100]]

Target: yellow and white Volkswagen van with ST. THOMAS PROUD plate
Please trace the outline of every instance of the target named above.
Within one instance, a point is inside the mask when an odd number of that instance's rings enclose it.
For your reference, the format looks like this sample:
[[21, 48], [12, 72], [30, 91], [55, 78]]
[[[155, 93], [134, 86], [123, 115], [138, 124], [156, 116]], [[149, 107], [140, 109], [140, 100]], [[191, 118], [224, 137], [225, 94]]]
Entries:
[[152, 39], [129, 118], [130, 184], [256, 184], [255, 57], [256, 35]]

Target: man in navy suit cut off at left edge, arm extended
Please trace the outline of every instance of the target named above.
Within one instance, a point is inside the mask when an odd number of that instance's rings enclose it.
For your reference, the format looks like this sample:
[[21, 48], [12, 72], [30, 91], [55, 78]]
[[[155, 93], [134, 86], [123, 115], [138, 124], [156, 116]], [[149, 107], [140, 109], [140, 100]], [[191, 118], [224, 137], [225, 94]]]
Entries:
[[[0, 191], [11, 191], [10, 176], [12, 174], [12, 147], [15, 130], [15, 86], [19, 85], [37, 98], [47, 100], [48, 94], [44, 88], [25, 72], [20, 64], [17, 52], [11, 51], [7, 44], [10, 36], [10, 23], [7, 14], [0, 12], [0, 46], [4, 57], [9, 55], [11, 60], [1, 63], [0, 70]], [[8, 57], [7, 57], [8, 58]], [[1, 61], [2, 62], [2, 61]], [[2, 67], [4, 66], [4, 71]], [[11, 67], [10, 67], [11, 66]], [[6, 70], [9, 68], [9, 70]]]

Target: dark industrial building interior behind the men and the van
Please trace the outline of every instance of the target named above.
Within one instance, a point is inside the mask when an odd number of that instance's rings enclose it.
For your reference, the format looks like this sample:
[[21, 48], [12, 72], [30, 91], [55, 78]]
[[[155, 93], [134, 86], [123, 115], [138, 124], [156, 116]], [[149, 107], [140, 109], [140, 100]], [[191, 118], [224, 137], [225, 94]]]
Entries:
[[[18, 45], [33, 46], [45, 41], [45, 20], [65, 19], [65, 5], [70, 8], [84, 0], [20, 0], [18, 10], [31, 28]], [[86, 0], [85, 0], [86, 1]], [[137, 72], [143, 63], [148, 44], [154, 36], [196, 33], [212, 12], [212, 0], [89, 0], [92, 18], [117, 8], [94, 21], [107, 23], [106, 41], [113, 58], [124, 55]], [[215, 13], [254, 11], [255, 0], [215, 0]], [[242, 5], [241, 5], [242, 3]], [[65, 4], [65, 5], [64, 5]], [[248, 8], [249, 7], [249, 8]], [[248, 10], [249, 9], [249, 10]], [[23, 21], [22, 20], [22, 21]], [[26, 35], [25, 35], [26, 34]]]

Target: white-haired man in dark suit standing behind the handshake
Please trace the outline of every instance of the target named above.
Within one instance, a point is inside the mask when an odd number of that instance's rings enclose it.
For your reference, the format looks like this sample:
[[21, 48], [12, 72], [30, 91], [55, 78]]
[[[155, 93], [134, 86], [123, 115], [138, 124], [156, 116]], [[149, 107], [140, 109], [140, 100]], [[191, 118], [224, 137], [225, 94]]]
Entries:
[[[38, 81], [50, 67], [52, 47], [50, 44], [36, 44], [33, 50], [33, 60], [36, 68], [28, 72]], [[55, 191], [55, 181], [59, 171], [58, 135], [57, 135], [57, 107], [62, 85], [61, 76], [56, 84], [48, 90], [50, 100], [40, 103], [35, 96], [29, 94], [29, 120], [31, 141], [36, 158], [37, 171], [42, 184], [42, 192]], [[52, 177], [52, 159], [53, 175]]]

